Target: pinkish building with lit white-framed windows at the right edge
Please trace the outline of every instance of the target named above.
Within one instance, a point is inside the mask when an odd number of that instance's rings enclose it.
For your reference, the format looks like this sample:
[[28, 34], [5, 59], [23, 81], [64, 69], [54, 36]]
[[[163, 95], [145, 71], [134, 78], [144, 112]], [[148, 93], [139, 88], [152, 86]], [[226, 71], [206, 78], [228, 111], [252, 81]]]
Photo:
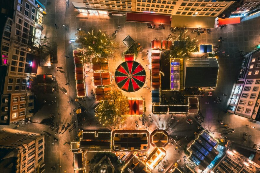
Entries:
[[247, 62], [243, 64], [247, 65], [241, 68], [228, 112], [259, 121], [260, 49], [250, 52], [245, 58]]

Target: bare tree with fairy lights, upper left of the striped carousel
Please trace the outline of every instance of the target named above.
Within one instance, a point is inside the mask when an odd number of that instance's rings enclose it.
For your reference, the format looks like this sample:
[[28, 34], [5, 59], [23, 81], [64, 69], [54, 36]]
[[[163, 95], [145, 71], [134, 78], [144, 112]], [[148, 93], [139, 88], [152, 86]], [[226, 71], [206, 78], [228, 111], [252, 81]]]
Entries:
[[76, 36], [76, 42], [83, 48], [82, 58], [85, 63], [91, 63], [92, 58], [102, 61], [115, 57], [116, 45], [112, 35], [94, 29], [87, 33], [79, 31]]

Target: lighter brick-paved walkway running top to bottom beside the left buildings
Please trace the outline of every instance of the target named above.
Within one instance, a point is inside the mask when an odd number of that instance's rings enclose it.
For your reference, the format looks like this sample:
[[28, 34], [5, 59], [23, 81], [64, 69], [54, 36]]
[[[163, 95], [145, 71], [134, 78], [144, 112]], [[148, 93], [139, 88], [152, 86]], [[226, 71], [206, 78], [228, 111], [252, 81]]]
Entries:
[[[50, 41], [57, 44], [57, 64], [53, 64], [53, 75], [56, 76], [57, 79], [57, 110], [58, 114], [56, 115], [56, 121], [63, 122], [63, 124], [67, 124], [70, 122], [73, 124], [74, 120], [72, 121], [72, 115], [70, 115], [71, 107], [70, 104], [67, 102], [70, 99], [70, 89], [69, 85], [65, 85], [68, 83], [67, 80], [67, 61], [73, 61], [72, 58], [66, 58], [64, 55], [67, 55], [65, 52], [65, 36], [66, 30], [62, 26], [65, 20], [66, 14], [66, 4], [65, 1], [51, 1], [47, 2], [46, 5], [46, 12], [47, 15], [44, 16], [44, 24], [43, 24], [43, 31], [42, 35], [47, 36]], [[58, 29], [54, 27], [54, 23], [57, 24]], [[56, 71], [56, 67], [63, 67], [62, 71]], [[62, 90], [61, 90], [62, 89]], [[68, 94], [63, 94], [62, 91], [67, 92]], [[72, 93], [74, 94], [74, 93]], [[62, 124], [60, 124], [62, 126]], [[60, 127], [61, 129], [61, 127]], [[74, 131], [69, 132], [67, 130], [64, 134], [57, 134], [55, 135], [59, 141], [52, 145], [50, 150], [53, 154], [51, 157], [46, 158], [45, 162], [47, 167], [46, 172], [52, 172], [50, 167], [52, 164], [57, 162], [57, 164], [61, 165], [60, 172], [74, 172], [73, 168], [73, 154], [69, 151], [70, 146], [68, 144], [63, 145], [65, 142], [73, 141], [75, 136], [73, 137]], [[49, 149], [48, 149], [49, 150]], [[65, 153], [65, 155], [64, 155]], [[50, 163], [48, 163], [50, 162]]]

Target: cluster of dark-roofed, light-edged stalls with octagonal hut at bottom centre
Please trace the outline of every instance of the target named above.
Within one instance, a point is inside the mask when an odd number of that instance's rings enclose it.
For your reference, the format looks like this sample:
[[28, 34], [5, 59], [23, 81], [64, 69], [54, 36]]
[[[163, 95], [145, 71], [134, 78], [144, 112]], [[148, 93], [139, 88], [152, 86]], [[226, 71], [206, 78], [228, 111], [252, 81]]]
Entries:
[[[166, 156], [164, 147], [168, 144], [168, 138], [165, 130], [154, 130], [151, 134], [147, 130], [115, 130], [113, 132], [108, 129], [82, 130], [80, 141], [70, 144], [74, 154], [75, 172], [86, 171], [87, 152], [108, 151], [134, 152], [125, 160], [126, 164], [122, 172], [129, 172], [129, 170], [140, 173], [152, 172]], [[154, 149], [147, 154], [149, 144]]]

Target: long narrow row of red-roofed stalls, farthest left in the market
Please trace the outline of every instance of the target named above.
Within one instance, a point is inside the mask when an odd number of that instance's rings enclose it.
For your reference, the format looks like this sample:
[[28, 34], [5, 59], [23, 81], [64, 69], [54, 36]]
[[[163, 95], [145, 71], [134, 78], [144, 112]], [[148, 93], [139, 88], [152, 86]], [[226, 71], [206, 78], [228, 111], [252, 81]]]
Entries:
[[86, 97], [85, 70], [82, 61], [82, 52], [80, 50], [74, 50], [73, 57], [74, 57], [74, 64], [75, 64], [77, 97], [79, 98]]

